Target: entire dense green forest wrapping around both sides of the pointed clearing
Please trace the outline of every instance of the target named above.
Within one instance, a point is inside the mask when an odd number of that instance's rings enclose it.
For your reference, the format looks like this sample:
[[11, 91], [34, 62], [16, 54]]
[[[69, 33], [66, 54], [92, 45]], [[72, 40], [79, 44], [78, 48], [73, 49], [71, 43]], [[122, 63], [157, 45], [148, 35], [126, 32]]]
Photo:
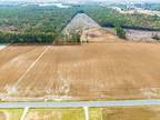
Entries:
[[160, 30], [160, 17], [146, 14], [120, 14], [107, 7], [73, 6], [58, 7], [0, 7], [0, 42], [53, 42], [61, 30], [83, 11], [99, 24], [126, 28]]

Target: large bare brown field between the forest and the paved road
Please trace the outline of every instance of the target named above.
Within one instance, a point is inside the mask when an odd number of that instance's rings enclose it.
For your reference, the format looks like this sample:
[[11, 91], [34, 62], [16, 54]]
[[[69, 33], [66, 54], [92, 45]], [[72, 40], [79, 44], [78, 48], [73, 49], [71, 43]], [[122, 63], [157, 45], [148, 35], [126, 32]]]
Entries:
[[159, 43], [10, 46], [0, 51], [2, 101], [160, 98]]

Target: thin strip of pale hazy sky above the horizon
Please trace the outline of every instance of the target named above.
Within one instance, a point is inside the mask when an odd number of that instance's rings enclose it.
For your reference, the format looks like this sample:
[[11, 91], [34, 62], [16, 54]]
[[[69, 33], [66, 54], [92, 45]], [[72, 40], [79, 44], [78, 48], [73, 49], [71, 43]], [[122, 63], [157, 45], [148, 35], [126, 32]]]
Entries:
[[[0, 0], [0, 1], [77, 1], [77, 0]], [[113, 2], [141, 2], [141, 1], [152, 1], [160, 2], [160, 0], [78, 0], [78, 1], [113, 1]]]

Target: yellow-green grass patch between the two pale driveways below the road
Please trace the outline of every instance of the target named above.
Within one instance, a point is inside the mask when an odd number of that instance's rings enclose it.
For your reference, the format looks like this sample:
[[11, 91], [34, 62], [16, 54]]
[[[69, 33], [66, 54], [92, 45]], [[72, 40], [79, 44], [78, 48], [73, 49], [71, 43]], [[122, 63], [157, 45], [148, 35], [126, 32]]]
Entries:
[[84, 120], [82, 108], [31, 109], [24, 120]]

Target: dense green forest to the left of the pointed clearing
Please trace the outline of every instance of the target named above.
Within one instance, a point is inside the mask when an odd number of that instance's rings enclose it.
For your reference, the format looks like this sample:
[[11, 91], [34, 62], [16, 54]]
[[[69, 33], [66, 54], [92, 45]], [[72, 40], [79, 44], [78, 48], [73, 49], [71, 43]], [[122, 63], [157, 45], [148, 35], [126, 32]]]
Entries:
[[0, 8], [0, 42], [53, 42], [74, 13], [56, 7]]

